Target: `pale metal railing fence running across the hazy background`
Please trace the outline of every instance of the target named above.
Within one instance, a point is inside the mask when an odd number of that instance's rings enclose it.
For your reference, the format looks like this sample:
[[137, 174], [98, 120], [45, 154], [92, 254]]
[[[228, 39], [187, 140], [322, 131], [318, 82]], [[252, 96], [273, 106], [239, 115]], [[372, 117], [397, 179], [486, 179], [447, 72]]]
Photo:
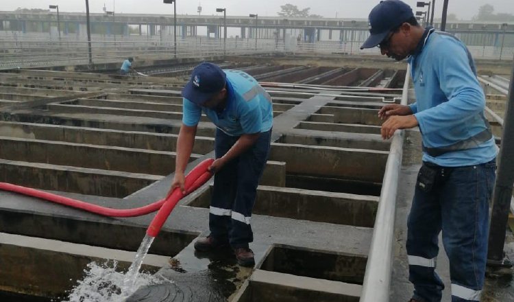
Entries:
[[[293, 39], [208, 38], [206, 36], [180, 38], [176, 47], [173, 36], [117, 36], [94, 35], [91, 41], [91, 61], [94, 64], [117, 62], [128, 56], [139, 59], [208, 58], [210, 56], [282, 52], [292, 54], [377, 55], [379, 50], [360, 49], [361, 38], [355, 41], [323, 41], [303, 43]], [[175, 50], [176, 49], [176, 50]], [[469, 46], [474, 58], [511, 60], [514, 47], [491, 45]], [[45, 67], [56, 65], [89, 64], [89, 47], [84, 37], [64, 35], [0, 32], [0, 69], [16, 67]]]

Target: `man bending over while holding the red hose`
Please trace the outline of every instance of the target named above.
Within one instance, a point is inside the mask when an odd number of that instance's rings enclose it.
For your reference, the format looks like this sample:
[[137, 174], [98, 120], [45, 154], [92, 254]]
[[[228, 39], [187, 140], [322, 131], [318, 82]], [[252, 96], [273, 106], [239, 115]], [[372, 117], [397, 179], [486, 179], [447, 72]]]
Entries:
[[182, 96], [184, 113], [171, 190], [184, 190], [184, 170], [202, 111], [217, 126], [216, 160], [209, 167], [215, 173], [209, 208], [210, 235], [197, 240], [195, 249], [206, 252], [230, 244], [239, 265], [254, 266], [254, 253], [248, 245], [254, 240], [250, 218], [269, 155], [271, 97], [247, 73], [221, 70], [208, 62], [193, 69]]

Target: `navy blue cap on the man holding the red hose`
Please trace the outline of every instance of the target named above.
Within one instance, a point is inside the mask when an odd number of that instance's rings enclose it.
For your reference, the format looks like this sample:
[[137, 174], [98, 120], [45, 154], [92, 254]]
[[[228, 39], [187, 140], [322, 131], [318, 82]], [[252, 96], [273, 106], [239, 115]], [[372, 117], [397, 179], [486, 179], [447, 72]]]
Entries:
[[182, 96], [195, 104], [204, 104], [225, 87], [226, 79], [227, 75], [217, 65], [201, 63], [193, 69], [191, 80], [184, 86]]

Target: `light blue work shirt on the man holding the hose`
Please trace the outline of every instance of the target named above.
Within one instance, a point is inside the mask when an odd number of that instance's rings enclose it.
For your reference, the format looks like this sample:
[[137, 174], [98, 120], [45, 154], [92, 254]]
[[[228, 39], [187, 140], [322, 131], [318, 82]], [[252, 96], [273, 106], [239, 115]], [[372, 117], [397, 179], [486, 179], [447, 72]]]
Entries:
[[223, 111], [201, 107], [184, 97], [182, 123], [195, 126], [202, 111], [227, 135], [266, 132], [273, 126], [271, 97], [258, 82], [244, 71], [225, 69], [227, 103]]

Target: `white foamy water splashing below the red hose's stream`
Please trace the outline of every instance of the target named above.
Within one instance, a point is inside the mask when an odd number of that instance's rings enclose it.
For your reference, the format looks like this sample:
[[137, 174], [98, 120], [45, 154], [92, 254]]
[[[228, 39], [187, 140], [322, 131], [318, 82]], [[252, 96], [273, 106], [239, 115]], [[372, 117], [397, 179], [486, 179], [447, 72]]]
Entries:
[[62, 302], [122, 302], [142, 286], [171, 283], [162, 276], [140, 272], [134, 279], [132, 288], [122, 290], [126, 276], [123, 272], [117, 272], [116, 268], [117, 262], [112, 260], [101, 265], [91, 262], [84, 270], [84, 278], [77, 281], [77, 286]]

